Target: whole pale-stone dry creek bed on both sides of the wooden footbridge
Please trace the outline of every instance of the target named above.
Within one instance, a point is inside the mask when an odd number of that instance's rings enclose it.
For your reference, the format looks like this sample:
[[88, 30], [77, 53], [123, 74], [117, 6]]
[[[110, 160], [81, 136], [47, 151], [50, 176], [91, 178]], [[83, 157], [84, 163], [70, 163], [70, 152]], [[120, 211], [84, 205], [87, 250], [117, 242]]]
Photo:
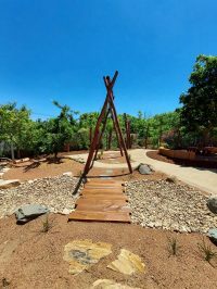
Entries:
[[[53, 213], [74, 210], [72, 196], [78, 178], [69, 176], [28, 180], [16, 188], [0, 190], [0, 217], [14, 213], [21, 205], [39, 203]], [[166, 180], [126, 183], [132, 223], [181, 233], [206, 233], [217, 226], [217, 215], [206, 206], [200, 190]]]

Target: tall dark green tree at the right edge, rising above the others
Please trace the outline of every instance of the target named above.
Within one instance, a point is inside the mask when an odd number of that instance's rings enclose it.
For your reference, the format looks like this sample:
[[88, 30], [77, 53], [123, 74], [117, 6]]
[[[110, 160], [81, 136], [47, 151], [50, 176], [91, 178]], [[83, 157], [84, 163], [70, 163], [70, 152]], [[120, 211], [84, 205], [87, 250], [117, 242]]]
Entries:
[[217, 126], [217, 56], [199, 55], [189, 80], [180, 96], [181, 123], [187, 131], [201, 131], [204, 146]]

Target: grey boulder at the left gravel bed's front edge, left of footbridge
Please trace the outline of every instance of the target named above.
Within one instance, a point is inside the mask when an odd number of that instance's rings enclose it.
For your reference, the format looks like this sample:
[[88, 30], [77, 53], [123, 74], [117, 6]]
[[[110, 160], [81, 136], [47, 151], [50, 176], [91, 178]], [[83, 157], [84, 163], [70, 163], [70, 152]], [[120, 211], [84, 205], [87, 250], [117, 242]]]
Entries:
[[40, 215], [49, 213], [48, 208], [40, 204], [27, 204], [15, 211], [17, 224], [25, 224]]

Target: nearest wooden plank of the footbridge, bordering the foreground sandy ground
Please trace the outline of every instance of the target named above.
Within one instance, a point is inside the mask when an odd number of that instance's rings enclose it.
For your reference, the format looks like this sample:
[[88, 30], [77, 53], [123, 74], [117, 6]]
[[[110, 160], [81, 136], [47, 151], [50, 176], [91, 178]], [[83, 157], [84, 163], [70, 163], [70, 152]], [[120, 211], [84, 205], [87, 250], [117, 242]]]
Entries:
[[98, 222], [123, 222], [130, 223], [127, 212], [92, 212], [74, 211], [69, 214], [68, 221], [98, 221]]

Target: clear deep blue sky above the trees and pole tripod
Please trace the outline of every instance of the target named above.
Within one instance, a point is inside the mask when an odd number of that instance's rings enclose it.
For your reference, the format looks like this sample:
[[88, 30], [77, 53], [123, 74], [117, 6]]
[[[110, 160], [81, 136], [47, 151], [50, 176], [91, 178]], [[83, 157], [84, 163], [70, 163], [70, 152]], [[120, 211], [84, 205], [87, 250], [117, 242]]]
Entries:
[[216, 0], [0, 0], [0, 103], [98, 111], [119, 71], [118, 113], [173, 111], [197, 54], [217, 54]]

